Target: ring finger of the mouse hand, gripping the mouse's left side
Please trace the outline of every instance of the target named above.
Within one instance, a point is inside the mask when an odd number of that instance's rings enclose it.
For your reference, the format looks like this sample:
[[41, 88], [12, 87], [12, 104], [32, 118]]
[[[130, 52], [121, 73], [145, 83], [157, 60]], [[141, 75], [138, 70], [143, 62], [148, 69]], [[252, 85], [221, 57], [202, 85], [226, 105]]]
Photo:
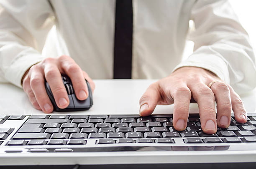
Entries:
[[38, 66], [33, 66], [31, 69], [28, 76], [30, 77], [30, 86], [37, 103], [44, 113], [51, 113], [53, 106], [45, 90], [43, 70]]

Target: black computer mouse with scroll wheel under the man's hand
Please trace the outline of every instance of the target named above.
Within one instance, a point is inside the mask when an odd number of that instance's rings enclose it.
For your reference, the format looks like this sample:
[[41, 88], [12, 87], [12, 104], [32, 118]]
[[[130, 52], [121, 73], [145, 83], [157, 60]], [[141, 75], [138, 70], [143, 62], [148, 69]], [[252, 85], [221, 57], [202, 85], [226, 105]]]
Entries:
[[86, 100], [80, 101], [77, 99], [74, 93], [73, 85], [70, 78], [67, 75], [61, 75], [61, 77], [69, 97], [69, 106], [67, 106], [67, 108], [59, 108], [57, 106], [54, 100], [54, 96], [51, 92], [51, 88], [47, 83], [47, 81], [45, 81], [46, 93], [48, 94], [51, 100], [51, 103], [54, 106], [54, 111], [81, 111], [81, 110], [88, 110], [89, 108], [91, 108], [92, 107], [92, 90], [89, 82], [85, 79], [88, 87], [89, 96]]

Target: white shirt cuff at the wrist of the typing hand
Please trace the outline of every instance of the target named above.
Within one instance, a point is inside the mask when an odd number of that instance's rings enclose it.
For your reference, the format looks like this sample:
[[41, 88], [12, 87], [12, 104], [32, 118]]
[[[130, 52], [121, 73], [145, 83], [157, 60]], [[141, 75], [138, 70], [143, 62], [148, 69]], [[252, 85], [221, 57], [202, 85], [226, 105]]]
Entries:
[[220, 56], [212, 55], [209, 53], [192, 54], [186, 61], [183, 61], [178, 66], [176, 66], [172, 72], [184, 66], [204, 68], [208, 71], [211, 71], [212, 73], [215, 73], [225, 83], [230, 83], [228, 66], [226, 65], [225, 61], [220, 58]]

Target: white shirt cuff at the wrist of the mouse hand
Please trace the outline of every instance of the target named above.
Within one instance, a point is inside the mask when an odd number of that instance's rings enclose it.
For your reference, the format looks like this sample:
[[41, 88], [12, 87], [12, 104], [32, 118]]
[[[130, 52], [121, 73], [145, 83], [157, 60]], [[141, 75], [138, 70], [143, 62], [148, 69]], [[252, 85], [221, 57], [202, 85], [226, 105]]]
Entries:
[[40, 54], [23, 55], [15, 60], [5, 73], [5, 78], [15, 86], [22, 88], [21, 78], [32, 65], [42, 61], [44, 57]]

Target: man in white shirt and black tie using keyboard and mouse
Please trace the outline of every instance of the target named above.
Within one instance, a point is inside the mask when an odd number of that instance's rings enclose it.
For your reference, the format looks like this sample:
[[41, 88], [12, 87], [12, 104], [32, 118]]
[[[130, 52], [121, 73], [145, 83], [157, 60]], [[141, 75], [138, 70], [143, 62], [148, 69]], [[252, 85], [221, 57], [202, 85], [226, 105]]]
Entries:
[[[125, 66], [120, 66], [123, 55], [132, 53], [132, 60], [125, 58], [124, 62], [131, 62], [132, 78], [162, 78], [141, 97], [141, 116], [150, 115], [157, 104], [174, 103], [174, 128], [184, 130], [189, 102], [196, 101], [205, 133], [215, 133], [217, 126], [228, 127], [232, 109], [236, 121], [246, 122], [246, 111], [236, 92], [256, 86], [255, 58], [248, 35], [230, 4], [226, 0], [133, 0], [132, 3], [1, 0], [0, 68], [4, 77], [16, 86], [22, 84], [33, 106], [50, 113], [53, 106], [45, 91], [45, 79], [57, 105], [66, 108], [69, 99], [61, 73], [71, 78], [77, 98], [84, 100], [88, 95], [84, 78], [92, 90], [95, 86], [90, 77], [125, 78], [115, 77], [115, 73], [128, 70], [118, 67]], [[121, 14], [115, 13], [118, 11]], [[123, 17], [118, 20], [120, 15]], [[129, 30], [127, 22], [120, 23], [129, 16], [133, 32], [124, 35], [127, 39], [120, 43], [122, 33], [127, 32], [117, 27]], [[195, 31], [187, 36], [189, 20], [195, 22]], [[54, 24], [71, 57], [41, 55], [46, 35]], [[195, 51], [181, 62], [186, 37], [195, 42]], [[122, 43], [128, 46], [122, 48], [123, 53], [117, 47]]]

